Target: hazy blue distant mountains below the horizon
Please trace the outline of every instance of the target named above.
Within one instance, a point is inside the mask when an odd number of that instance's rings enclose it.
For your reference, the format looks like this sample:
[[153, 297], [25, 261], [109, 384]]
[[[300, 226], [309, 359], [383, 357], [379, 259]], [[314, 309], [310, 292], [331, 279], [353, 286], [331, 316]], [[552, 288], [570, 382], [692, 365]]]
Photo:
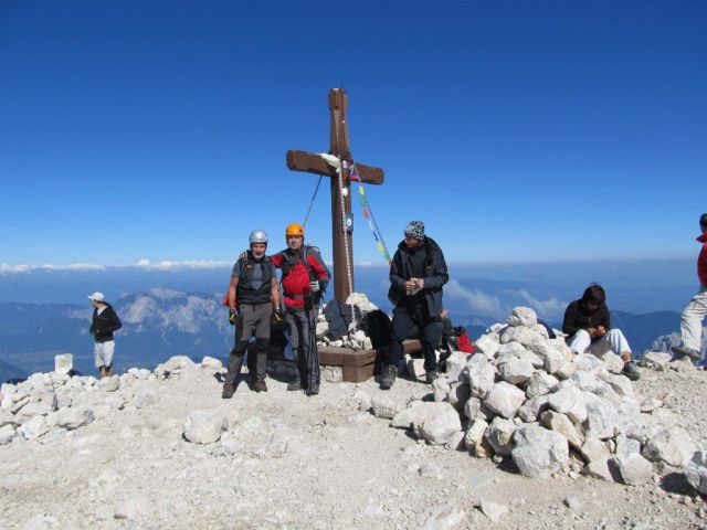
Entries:
[[[376, 298], [372, 301], [384, 304]], [[194, 360], [212, 356], [225, 361], [232, 347], [233, 327], [220, 296], [152, 288], [122, 296], [114, 307], [124, 325], [116, 333], [118, 372], [131, 367], [154, 368], [177, 354]], [[73, 304], [0, 303], [0, 381], [53, 370], [54, 356], [64, 352], [74, 354], [80, 372], [94, 373], [91, 315], [89, 307]], [[454, 325], [467, 328], [472, 339], [498, 320], [461, 310], [452, 318]], [[548, 324], [560, 327], [558, 321]], [[678, 330], [679, 315], [612, 311], [612, 325], [623, 330], [640, 354], [656, 338]]]

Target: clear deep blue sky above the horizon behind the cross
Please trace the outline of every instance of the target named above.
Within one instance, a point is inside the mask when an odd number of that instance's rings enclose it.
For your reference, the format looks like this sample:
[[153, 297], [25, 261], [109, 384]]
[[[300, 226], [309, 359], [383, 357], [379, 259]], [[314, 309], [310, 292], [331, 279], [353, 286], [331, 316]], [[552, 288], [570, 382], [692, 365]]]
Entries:
[[[706, 64], [704, 1], [4, 0], [0, 264], [283, 246], [317, 181], [285, 152], [328, 149], [337, 86], [389, 246], [422, 219], [450, 262], [694, 256]], [[323, 186], [325, 257], [329, 223]]]

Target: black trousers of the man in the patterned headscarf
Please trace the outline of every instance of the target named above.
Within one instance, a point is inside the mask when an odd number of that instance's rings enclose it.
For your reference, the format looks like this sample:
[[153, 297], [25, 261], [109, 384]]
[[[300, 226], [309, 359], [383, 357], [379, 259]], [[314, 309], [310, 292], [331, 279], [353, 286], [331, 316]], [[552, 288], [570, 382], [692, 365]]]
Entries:
[[403, 356], [402, 341], [410, 338], [414, 329], [422, 342], [424, 369], [428, 372], [437, 369], [435, 348], [442, 339], [444, 325], [439, 317], [431, 317], [426, 306], [397, 306], [393, 309], [393, 336], [390, 341], [388, 362], [395, 367]]

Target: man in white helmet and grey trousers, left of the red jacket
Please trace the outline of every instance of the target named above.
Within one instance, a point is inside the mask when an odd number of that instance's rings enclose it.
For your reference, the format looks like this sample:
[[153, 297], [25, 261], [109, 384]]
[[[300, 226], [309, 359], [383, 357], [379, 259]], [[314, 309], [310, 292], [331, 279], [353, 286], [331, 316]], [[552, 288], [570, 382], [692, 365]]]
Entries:
[[229, 371], [223, 383], [223, 399], [231, 399], [241, 373], [243, 356], [253, 332], [257, 360], [254, 363], [253, 390], [266, 392], [265, 364], [270, 342], [271, 319], [282, 319], [275, 267], [267, 251], [267, 234], [254, 230], [249, 237], [251, 248], [233, 265], [229, 286], [229, 320], [235, 325], [235, 340], [229, 356]]

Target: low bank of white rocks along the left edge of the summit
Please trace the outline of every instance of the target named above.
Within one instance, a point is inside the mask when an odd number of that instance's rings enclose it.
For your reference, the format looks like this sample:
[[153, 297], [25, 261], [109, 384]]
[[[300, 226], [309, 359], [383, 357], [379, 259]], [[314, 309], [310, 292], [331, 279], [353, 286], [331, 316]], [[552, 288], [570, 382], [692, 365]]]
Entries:
[[18, 384], [0, 386], [0, 445], [14, 438], [46, 444], [71, 431], [126, 409], [145, 409], [158, 401], [160, 379], [212, 374], [221, 361], [205, 357], [197, 364], [188, 357], [172, 357], [154, 372], [131, 368], [120, 377], [97, 380], [64, 373], [34, 373]]

